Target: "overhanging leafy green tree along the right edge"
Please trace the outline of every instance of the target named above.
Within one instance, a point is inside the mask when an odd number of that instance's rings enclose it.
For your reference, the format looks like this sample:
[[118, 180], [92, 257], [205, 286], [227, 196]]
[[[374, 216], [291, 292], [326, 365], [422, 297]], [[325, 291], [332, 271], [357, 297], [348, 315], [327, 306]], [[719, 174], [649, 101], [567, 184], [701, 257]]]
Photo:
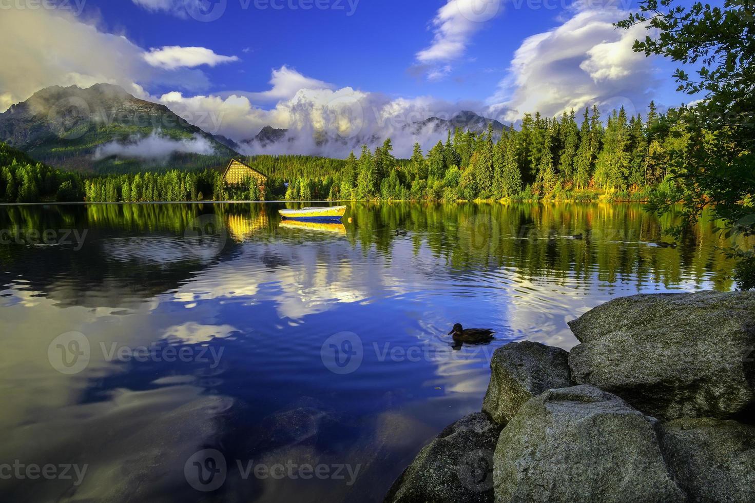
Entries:
[[[651, 208], [659, 214], [683, 203], [687, 221], [713, 208], [723, 231], [747, 238], [755, 234], [755, 3], [726, 0], [721, 7], [695, 2], [686, 8], [673, 0], [646, 0], [639, 13], [617, 26], [649, 29], [634, 51], [661, 54], [684, 65], [701, 65], [696, 76], [677, 69], [678, 91], [700, 97], [691, 106], [670, 110], [655, 131], [679, 140], [667, 150], [675, 182], [659, 190]], [[651, 149], [652, 150], [652, 149]], [[671, 227], [680, 236], [684, 227]], [[726, 250], [740, 259], [738, 280], [755, 288], [755, 252]]]

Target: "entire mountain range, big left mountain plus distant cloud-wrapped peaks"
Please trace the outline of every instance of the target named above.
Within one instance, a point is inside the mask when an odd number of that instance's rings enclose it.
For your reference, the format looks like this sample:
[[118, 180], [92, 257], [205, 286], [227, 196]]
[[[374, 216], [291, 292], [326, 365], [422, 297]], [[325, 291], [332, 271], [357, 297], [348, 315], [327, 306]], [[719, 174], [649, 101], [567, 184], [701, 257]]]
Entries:
[[[508, 128], [495, 119], [462, 111], [451, 119], [430, 117], [403, 125], [404, 134], [418, 141], [444, 140], [448, 130], [482, 132], [492, 124], [494, 134]], [[294, 150], [295, 131], [263, 127], [238, 143], [209, 134], [173, 113], [167, 106], [140, 100], [116, 85], [97, 84], [82, 89], [53, 86], [36, 92], [23, 103], [0, 113], [0, 141], [33, 159], [75, 171], [132, 172], [160, 168], [217, 168], [241, 153], [263, 153], [268, 147]], [[384, 138], [316, 133], [316, 147], [358, 149], [362, 143]], [[435, 140], [433, 140], [435, 141]], [[299, 153], [299, 152], [291, 152]]]

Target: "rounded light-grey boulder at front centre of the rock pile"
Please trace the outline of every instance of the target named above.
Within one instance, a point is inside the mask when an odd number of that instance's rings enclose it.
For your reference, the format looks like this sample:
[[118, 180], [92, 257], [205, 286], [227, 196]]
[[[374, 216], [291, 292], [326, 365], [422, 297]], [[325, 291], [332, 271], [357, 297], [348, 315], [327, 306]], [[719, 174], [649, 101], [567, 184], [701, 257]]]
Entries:
[[657, 422], [596, 387], [547, 390], [501, 431], [495, 501], [684, 501]]

